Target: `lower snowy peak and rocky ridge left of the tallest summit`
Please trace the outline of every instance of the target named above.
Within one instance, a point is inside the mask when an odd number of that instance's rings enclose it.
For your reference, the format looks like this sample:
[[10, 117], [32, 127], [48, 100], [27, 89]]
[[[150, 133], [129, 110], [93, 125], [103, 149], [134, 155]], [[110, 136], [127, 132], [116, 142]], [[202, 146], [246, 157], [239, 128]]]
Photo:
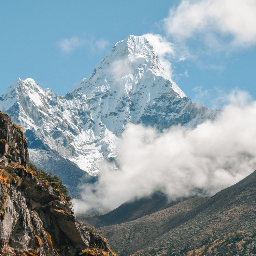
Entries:
[[[32, 130], [40, 141], [90, 174], [97, 174], [100, 160], [116, 154], [117, 137], [101, 123], [91, 127], [94, 121], [83, 93], [59, 96], [28, 78], [14, 81], [0, 100], [0, 110], [9, 114], [25, 134]], [[42, 155], [37, 151], [30, 148], [32, 160]], [[84, 160], [81, 164], [80, 158]]]

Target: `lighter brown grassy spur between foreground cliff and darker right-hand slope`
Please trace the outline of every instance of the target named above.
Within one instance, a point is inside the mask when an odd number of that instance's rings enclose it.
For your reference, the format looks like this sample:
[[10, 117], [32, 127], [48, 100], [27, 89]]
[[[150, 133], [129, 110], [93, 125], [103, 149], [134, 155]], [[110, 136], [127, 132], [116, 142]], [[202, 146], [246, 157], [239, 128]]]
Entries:
[[103, 231], [117, 254], [129, 255], [147, 246], [152, 239], [168, 232], [169, 225], [167, 223], [177, 215], [190, 212], [207, 200], [205, 197], [191, 198], [134, 221], [102, 227], [99, 230]]

